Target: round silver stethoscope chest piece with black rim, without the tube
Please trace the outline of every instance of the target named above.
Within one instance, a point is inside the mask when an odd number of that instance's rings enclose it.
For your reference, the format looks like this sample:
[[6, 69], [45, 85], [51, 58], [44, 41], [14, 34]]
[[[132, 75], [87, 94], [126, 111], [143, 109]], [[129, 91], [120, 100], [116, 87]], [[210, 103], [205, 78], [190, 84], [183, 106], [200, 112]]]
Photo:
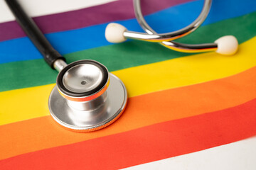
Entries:
[[93, 60], [68, 64], [49, 97], [50, 115], [63, 127], [94, 131], [117, 120], [127, 103], [124, 84]]

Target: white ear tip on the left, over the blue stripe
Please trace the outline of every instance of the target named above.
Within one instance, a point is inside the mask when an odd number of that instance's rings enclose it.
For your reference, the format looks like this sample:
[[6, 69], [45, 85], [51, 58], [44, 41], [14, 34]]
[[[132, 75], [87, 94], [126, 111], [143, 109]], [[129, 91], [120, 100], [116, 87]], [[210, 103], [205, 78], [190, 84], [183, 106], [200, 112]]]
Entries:
[[124, 26], [119, 23], [109, 23], [105, 30], [105, 37], [108, 42], [118, 43], [127, 40], [124, 37], [124, 31], [127, 30]]

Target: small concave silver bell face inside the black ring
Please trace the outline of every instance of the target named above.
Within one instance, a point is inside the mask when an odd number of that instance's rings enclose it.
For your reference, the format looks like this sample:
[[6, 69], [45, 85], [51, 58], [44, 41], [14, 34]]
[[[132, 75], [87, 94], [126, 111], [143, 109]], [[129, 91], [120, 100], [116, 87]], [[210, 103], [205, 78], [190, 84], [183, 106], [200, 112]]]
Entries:
[[100, 85], [103, 72], [92, 64], [78, 64], [68, 69], [63, 76], [63, 85], [70, 91], [82, 93]]

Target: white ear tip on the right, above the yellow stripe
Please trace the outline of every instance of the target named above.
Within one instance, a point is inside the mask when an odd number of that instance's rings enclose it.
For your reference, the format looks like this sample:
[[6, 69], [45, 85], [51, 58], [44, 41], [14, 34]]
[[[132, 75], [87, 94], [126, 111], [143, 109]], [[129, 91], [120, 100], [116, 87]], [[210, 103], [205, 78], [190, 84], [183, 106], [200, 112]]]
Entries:
[[233, 35], [226, 35], [215, 40], [220, 55], [234, 55], [238, 51], [238, 40]]

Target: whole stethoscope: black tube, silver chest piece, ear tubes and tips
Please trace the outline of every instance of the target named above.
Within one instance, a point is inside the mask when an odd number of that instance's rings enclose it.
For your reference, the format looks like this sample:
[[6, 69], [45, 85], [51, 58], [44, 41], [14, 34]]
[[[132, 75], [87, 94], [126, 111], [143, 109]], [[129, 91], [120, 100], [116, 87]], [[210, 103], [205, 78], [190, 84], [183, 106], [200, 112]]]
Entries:
[[[85, 132], [105, 128], [117, 120], [127, 105], [127, 90], [122, 81], [109, 73], [103, 64], [94, 60], [80, 60], [66, 64], [65, 58], [50, 45], [20, 4], [16, 0], [5, 1], [44, 60], [59, 72], [56, 86], [51, 91], [48, 101], [53, 119], [69, 130]], [[172, 41], [196, 30], [208, 15], [210, 4], [210, 0], [205, 1], [200, 16], [190, 26], [173, 33], [157, 34], [144, 20], [140, 1], [134, 0], [137, 20], [146, 33], [135, 33], [117, 23], [110, 23], [105, 35], [110, 42], [122, 42], [132, 38], [160, 42], [172, 50], [184, 52], [216, 50], [223, 55], [232, 55], [238, 49], [238, 41], [231, 35], [220, 38], [215, 43], [201, 45], [186, 45]]]

